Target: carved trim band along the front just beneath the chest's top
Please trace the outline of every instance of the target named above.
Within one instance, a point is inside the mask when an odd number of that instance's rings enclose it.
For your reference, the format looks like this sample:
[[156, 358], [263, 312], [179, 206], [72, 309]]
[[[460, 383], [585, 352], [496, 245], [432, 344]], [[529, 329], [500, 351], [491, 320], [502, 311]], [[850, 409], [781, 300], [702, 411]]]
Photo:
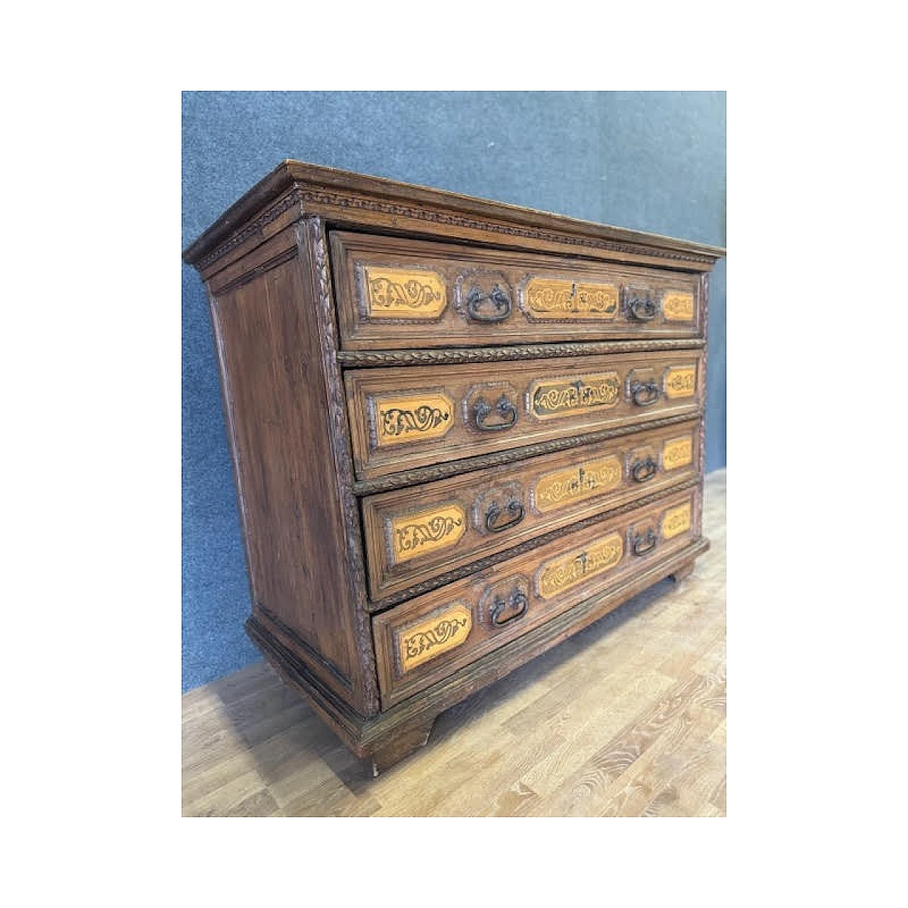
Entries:
[[638, 246], [629, 242], [601, 240], [588, 236], [577, 236], [573, 233], [555, 232], [542, 227], [518, 227], [516, 224], [510, 223], [490, 220], [479, 221], [463, 214], [439, 211], [417, 205], [405, 205], [400, 202], [385, 202], [353, 192], [304, 187], [302, 189], [302, 197], [304, 201], [314, 202], [317, 205], [331, 205], [335, 208], [351, 208], [381, 212], [382, 214], [394, 214], [399, 217], [413, 218], [417, 221], [429, 221], [450, 224], [455, 227], [469, 227], [472, 230], [505, 233], [508, 236], [526, 237], [530, 240], [559, 242], [570, 246], [586, 246], [589, 249], [602, 249], [610, 252], [626, 252], [629, 255], [644, 255], [649, 258], [669, 259], [676, 262], [712, 264], [716, 261], [716, 256], [712, 255], [698, 255], [696, 252], [677, 252], [675, 250], [660, 249], [659, 247]]

